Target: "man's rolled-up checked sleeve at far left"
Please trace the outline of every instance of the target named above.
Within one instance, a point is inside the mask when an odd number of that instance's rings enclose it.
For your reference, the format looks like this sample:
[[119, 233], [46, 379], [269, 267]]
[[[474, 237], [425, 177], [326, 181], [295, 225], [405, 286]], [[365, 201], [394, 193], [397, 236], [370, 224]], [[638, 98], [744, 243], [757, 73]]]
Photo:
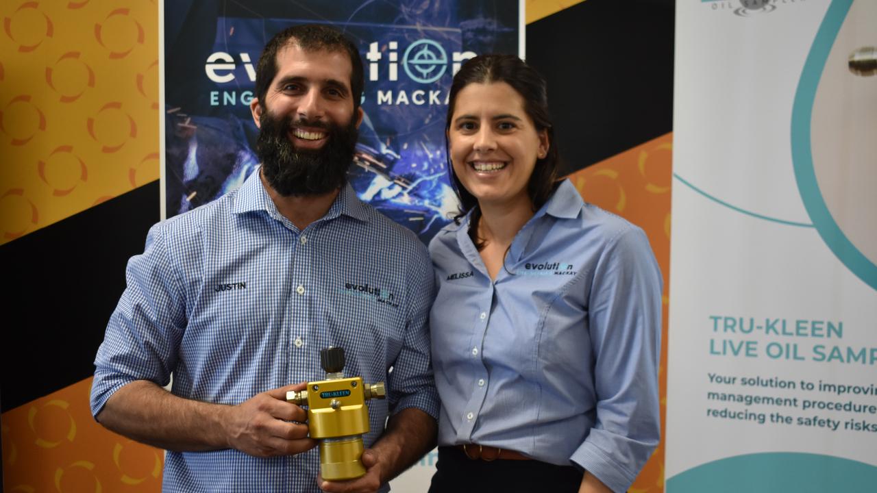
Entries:
[[153, 225], [144, 253], [128, 261], [125, 292], [97, 349], [91, 385], [93, 416], [128, 383], [149, 380], [165, 386], [170, 382], [186, 317], [162, 225]]

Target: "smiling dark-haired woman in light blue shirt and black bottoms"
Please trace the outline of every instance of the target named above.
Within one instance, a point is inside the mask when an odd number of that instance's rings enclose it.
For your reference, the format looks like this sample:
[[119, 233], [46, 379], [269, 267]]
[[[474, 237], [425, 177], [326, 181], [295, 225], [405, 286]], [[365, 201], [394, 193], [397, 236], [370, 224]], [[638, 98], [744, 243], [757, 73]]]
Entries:
[[659, 440], [648, 240], [557, 181], [545, 81], [523, 61], [467, 61], [448, 102], [462, 205], [430, 244], [430, 491], [624, 491]]

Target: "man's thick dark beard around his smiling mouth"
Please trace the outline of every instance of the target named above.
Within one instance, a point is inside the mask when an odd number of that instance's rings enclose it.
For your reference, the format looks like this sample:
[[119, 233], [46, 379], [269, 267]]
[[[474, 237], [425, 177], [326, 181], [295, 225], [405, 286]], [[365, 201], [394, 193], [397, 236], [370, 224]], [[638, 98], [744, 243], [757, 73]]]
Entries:
[[[328, 133], [325, 144], [317, 150], [296, 149], [289, 140], [293, 125], [321, 129]], [[260, 118], [256, 154], [262, 161], [262, 174], [271, 188], [282, 196], [322, 195], [339, 189], [347, 181], [347, 168], [356, 147], [356, 122], [350, 125], [322, 121], [275, 118], [263, 111]]]

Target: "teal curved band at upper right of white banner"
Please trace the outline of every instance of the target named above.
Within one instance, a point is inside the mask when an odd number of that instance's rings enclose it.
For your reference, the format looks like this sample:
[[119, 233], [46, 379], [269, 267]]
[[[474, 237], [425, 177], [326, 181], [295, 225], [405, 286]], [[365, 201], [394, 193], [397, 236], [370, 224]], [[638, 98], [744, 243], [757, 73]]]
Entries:
[[845, 267], [873, 289], [877, 289], [877, 265], [863, 254], [847, 237], [832, 218], [825, 203], [816, 172], [813, 167], [813, 154], [810, 142], [810, 125], [813, 116], [813, 103], [816, 89], [822, 76], [825, 62], [831, 53], [831, 46], [844, 23], [852, 0], [834, 0], [825, 13], [825, 18], [816, 32], [816, 39], [810, 47], [807, 61], [801, 73], [801, 80], [795, 92], [792, 107], [792, 164], [795, 180], [804, 203], [804, 208], [813, 221], [816, 231], [831, 252], [844, 263]]

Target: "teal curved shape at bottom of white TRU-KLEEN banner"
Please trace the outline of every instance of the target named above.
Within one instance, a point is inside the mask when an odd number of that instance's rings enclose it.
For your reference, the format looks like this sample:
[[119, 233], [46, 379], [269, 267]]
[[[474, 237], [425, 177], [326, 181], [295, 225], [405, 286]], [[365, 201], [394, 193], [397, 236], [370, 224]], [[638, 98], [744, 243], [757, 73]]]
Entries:
[[833, 455], [774, 452], [707, 462], [667, 479], [667, 493], [874, 491], [877, 467]]

